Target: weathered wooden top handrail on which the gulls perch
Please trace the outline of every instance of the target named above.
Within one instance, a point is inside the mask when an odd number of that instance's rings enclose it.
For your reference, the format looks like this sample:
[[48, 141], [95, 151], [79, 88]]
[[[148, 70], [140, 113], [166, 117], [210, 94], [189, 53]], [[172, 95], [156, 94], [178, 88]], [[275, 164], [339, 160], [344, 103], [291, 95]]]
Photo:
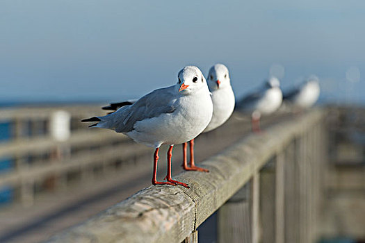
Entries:
[[[293, 137], [321, 121], [322, 114], [320, 110], [314, 110], [277, 124], [263, 135], [251, 134], [243, 138], [218, 156], [201, 163], [209, 169], [209, 174], [188, 171], [175, 176], [177, 180], [188, 183], [190, 189], [179, 186], [147, 187], [49, 241], [179, 243], [250, 178], [258, 181], [257, 172], [266, 162], [277, 151], [288, 146]], [[253, 242], [257, 242], [259, 237], [255, 239]]]

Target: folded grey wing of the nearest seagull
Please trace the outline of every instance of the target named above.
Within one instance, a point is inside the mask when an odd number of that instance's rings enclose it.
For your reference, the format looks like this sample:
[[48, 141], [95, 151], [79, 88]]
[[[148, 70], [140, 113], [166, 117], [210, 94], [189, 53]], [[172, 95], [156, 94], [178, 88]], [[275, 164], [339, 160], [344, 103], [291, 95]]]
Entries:
[[172, 113], [175, 111], [173, 106], [177, 96], [174, 92], [175, 85], [154, 90], [144, 97], [138, 99], [131, 106], [122, 106], [119, 110], [108, 116], [113, 116], [115, 131], [126, 133], [133, 130], [137, 121], [159, 117], [163, 113]]

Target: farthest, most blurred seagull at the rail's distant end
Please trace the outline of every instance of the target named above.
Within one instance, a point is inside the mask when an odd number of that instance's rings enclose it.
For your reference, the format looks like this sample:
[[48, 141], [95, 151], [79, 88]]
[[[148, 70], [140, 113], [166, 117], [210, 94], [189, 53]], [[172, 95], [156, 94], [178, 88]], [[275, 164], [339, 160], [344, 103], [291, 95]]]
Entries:
[[319, 93], [318, 77], [310, 76], [299, 87], [284, 94], [283, 99], [299, 108], [311, 108], [318, 100]]

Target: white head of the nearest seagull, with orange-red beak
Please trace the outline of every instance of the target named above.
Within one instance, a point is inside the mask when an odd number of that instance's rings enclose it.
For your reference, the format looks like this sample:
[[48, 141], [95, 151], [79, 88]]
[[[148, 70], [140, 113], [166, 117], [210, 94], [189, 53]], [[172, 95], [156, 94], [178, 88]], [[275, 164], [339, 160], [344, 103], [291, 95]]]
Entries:
[[186, 66], [181, 69], [177, 79], [177, 90], [180, 94], [192, 94], [202, 89], [208, 91], [202, 72], [195, 66]]

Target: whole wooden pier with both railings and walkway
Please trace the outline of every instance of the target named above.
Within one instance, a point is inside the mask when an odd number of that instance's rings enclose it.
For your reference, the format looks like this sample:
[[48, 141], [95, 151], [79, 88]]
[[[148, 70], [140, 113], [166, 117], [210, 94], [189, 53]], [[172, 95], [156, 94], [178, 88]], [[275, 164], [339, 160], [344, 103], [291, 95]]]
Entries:
[[235, 112], [196, 139], [209, 174], [181, 172], [175, 146], [173, 174], [190, 189], [150, 185], [152, 149], [79, 122], [99, 106], [0, 112], [0, 242], [365, 239], [364, 108], [282, 110], [262, 134]]

